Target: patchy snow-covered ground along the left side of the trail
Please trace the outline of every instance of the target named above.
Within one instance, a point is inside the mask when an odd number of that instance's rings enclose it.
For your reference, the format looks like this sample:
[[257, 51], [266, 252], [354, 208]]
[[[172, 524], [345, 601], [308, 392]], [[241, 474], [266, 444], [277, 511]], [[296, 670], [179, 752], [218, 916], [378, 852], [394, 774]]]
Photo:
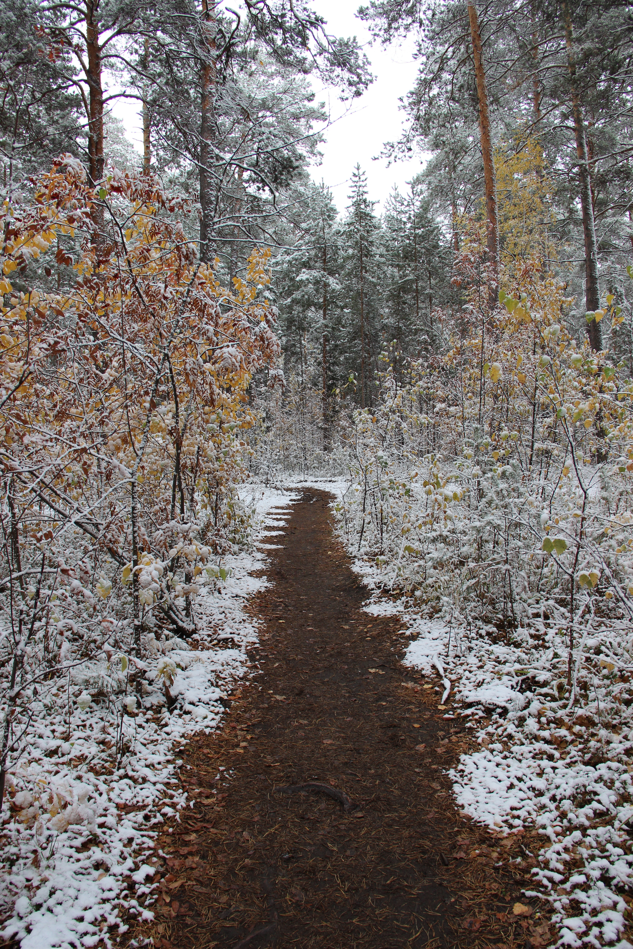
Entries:
[[[243, 493], [254, 509], [251, 548], [225, 558], [221, 589], [198, 595], [197, 637], [149, 637], [140, 706], [129, 696], [117, 705], [103, 689], [108, 677], [124, 679], [121, 656], [85, 662], [57, 696], [33, 706], [0, 831], [0, 913], [8, 919], [0, 936], [21, 940], [22, 949], [110, 945], [126, 928], [124, 915], [151, 919], [157, 831], [188, 804], [178, 754], [196, 732], [217, 727], [222, 700], [248, 676], [257, 629], [245, 605], [268, 585], [251, 574], [265, 566], [263, 550], [277, 546], [265, 538], [281, 533], [294, 500], [263, 488]], [[171, 713], [165, 682], [177, 702]], [[58, 714], [55, 698], [82, 685], [70, 717]]]

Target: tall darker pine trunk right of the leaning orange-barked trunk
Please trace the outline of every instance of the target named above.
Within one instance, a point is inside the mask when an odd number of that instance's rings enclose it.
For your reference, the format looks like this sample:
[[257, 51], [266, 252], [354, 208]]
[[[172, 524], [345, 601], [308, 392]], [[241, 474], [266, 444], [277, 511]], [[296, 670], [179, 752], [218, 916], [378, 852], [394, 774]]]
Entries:
[[[596, 241], [596, 227], [593, 217], [593, 201], [591, 200], [591, 173], [589, 158], [586, 150], [586, 129], [583, 117], [583, 107], [576, 85], [576, 62], [573, 52], [573, 28], [571, 14], [567, 0], [563, 3], [565, 19], [565, 42], [568, 48], [568, 67], [571, 79], [571, 106], [573, 112], [573, 128], [576, 139], [576, 154], [578, 155], [578, 177], [580, 178], [580, 205], [583, 216], [583, 235], [585, 237], [585, 305], [587, 313], [594, 313], [600, 309], [600, 288], [598, 286], [598, 243]], [[603, 348], [603, 333], [599, 323], [595, 320], [587, 326], [589, 344], [594, 352]]]

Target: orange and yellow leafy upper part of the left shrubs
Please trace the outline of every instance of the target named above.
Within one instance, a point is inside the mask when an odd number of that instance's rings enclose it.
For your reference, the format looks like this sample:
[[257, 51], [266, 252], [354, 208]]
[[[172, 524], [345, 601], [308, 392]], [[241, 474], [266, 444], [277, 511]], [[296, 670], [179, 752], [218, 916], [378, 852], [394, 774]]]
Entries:
[[[5, 204], [0, 465], [25, 541], [54, 548], [72, 523], [116, 571], [171, 549], [176, 522], [217, 552], [239, 532], [248, 388], [280, 351], [270, 251], [221, 287], [186, 237], [193, 211], [128, 173], [96, 193], [72, 159]], [[26, 286], [40, 255], [60, 276], [46, 291]]]

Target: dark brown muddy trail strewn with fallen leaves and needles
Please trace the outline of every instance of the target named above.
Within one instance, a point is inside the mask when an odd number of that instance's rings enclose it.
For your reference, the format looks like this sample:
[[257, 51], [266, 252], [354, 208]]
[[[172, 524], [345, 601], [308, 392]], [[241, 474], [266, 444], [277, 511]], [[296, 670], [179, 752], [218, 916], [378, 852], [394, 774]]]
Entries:
[[445, 772], [470, 739], [438, 709], [438, 679], [400, 664], [399, 622], [363, 611], [328, 501], [305, 490], [275, 538], [273, 585], [251, 605], [260, 671], [223, 730], [183, 754], [195, 807], [158, 840], [156, 917], [130, 935], [165, 949], [547, 945], [543, 905], [522, 895], [531, 840], [457, 814]]

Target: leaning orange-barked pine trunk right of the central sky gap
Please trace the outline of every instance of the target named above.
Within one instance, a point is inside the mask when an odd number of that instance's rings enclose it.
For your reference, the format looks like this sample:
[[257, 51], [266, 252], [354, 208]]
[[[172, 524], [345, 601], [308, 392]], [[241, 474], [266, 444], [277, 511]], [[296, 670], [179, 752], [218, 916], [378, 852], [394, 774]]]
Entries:
[[481, 156], [484, 163], [484, 186], [486, 189], [488, 260], [491, 266], [488, 297], [490, 307], [493, 308], [497, 304], [499, 294], [499, 224], [496, 212], [496, 184], [494, 181], [493, 143], [490, 131], [486, 70], [484, 68], [479, 21], [477, 19], [475, 4], [468, 5], [468, 19], [471, 27], [473, 58], [475, 60], [475, 80], [477, 85], [477, 99], [479, 102], [479, 134], [481, 139]]

